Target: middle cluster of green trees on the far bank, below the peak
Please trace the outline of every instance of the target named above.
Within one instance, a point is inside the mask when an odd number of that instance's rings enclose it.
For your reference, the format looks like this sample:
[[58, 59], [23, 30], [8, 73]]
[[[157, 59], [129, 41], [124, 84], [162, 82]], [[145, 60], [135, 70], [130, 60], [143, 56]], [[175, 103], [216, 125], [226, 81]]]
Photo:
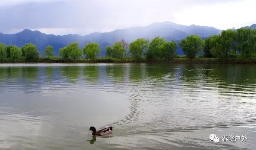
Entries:
[[[129, 48], [129, 49], [128, 49]], [[138, 38], [129, 45], [124, 41], [118, 41], [114, 45], [106, 47], [106, 55], [112, 58], [124, 58], [130, 52], [131, 58], [140, 59], [171, 59], [177, 55], [177, 43], [166, 41], [164, 38], [156, 37], [151, 42], [148, 39]]]

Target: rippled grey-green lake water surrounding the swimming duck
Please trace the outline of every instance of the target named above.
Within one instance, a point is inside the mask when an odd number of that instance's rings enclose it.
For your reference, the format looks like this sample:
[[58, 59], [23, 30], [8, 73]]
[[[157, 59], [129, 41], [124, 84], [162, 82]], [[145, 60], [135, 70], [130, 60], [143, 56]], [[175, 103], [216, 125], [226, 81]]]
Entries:
[[0, 150], [255, 147], [256, 65], [0, 64]]

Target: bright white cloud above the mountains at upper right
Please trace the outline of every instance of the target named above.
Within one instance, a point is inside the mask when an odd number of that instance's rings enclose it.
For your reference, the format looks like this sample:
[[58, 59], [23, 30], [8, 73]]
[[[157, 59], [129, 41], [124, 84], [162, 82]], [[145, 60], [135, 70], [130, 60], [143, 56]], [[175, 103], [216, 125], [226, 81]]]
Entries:
[[193, 6], [174, 14], [174, 21], [185, 25], [196, 23], [218, 29], [240, 28], [256, 23], [256, 1], [243, 0]]

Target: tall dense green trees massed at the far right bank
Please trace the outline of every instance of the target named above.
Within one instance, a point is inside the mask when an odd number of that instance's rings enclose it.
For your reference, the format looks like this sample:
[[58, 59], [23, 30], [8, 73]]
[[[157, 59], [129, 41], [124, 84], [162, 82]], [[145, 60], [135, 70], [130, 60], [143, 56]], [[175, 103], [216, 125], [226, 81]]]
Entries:
[[221, 35], [213, 35], [205, 39], [205, 57], [230, 57], [241, 54], [242, 57], [256, 57], [256, 30], [228, 29]]

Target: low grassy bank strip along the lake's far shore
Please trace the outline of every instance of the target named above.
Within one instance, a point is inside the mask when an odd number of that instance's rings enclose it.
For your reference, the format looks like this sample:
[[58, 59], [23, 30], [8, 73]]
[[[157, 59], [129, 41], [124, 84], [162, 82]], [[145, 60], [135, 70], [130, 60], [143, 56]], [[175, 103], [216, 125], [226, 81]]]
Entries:
[[61, 59], [61, 58], [39, 58], [34, 61], [20, 60], [4, 60], [0, 63], [252, 63], [256, 64], [256, 58], [173, 58], [172, 60], [157, 59], [116, 59], [116, 58], [99, 58], [90, 59]]

